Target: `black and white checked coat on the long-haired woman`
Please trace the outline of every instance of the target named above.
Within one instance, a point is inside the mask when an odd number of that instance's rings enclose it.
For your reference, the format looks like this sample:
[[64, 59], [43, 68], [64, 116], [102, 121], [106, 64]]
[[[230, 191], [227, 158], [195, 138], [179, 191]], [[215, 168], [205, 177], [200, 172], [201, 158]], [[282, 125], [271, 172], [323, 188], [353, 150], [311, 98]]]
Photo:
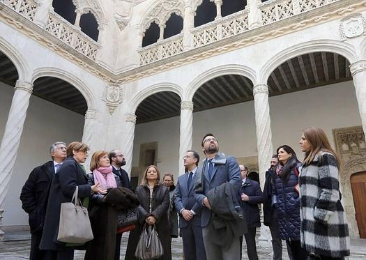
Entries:
[[349, 229], [340, 201], [335, 157], [318, 153], [300, 171], [301, 246], [321, 256], [349, 255]]

